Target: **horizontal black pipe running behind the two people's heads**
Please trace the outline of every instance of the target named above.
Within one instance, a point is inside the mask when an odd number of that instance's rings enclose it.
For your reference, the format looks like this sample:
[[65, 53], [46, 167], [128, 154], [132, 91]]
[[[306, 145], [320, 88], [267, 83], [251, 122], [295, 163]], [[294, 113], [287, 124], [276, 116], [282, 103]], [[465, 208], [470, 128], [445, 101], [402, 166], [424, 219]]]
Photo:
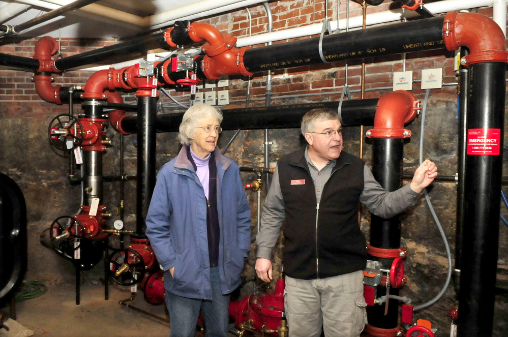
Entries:
[[[378, 99], [344, 101], [341, 122], [344, 126], [373, 125]], [[256, 108], [224, 109], [221, 127], [224, 130], [297, 129], [302, 117], [315, 108], [337, 109], [338, 102], [290, 104], [262, 106]], [[178, 132], [184, 113], [171, 113], [157, 116], [157, 132]], [[361, 123], [361, 124], [359, 124]], [[137, 118], [129, 116], [122, 119], [122, 129], [137, 132]]]

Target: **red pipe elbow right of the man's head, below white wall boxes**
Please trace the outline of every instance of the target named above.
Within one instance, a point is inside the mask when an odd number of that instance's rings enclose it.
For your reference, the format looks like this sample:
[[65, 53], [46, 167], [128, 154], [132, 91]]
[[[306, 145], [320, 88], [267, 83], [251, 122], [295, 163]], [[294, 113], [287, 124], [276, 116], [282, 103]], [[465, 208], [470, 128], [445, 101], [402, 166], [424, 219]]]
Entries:
[[379, 98], [374, 116], [374, 129], [367, 131], [369, 138], [408, 138], [411, 131], [404, 125], [416, 117], [420, 101], [407, 91], [397, 90]]

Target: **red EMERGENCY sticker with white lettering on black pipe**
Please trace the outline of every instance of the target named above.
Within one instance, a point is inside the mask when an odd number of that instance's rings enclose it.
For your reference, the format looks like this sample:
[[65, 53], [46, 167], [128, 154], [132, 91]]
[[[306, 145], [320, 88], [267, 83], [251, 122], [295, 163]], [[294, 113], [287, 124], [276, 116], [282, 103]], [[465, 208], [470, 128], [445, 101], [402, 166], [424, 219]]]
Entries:
[[499, 156], [501, 129], [467, 130], [467, 154]]

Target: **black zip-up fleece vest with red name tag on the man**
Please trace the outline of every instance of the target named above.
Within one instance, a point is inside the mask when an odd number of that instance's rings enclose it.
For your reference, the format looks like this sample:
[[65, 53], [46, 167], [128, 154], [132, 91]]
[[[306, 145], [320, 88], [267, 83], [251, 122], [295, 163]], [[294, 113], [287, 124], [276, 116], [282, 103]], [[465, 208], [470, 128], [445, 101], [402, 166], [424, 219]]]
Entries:
[[313, 280], [362, 270], [367, 242], [358, 225], [357, 209], [365, 164], [342, 151], [318, 209], [304, 151], [305, 147], [284, 156], [277, 164], [286, 207], [284, 271], [292, 278]]

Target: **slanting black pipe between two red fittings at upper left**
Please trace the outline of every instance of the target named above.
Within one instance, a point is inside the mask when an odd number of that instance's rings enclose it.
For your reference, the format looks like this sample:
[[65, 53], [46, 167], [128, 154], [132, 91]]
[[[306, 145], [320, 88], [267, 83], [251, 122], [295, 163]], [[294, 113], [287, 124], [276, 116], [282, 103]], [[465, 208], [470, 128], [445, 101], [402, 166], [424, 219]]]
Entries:
[[137, 39], [132, 39], [127, 42], [118, 43], [112, 46], [57, 59], [55, 61], [55, 68], [63, 71], [70, 68], [100, 62], [114, 55], [139, 53], [145, 50], [162, 47], [167, 47], [167, 43], [164, 40], [164, 33], [157, 33], [143, 36]]

